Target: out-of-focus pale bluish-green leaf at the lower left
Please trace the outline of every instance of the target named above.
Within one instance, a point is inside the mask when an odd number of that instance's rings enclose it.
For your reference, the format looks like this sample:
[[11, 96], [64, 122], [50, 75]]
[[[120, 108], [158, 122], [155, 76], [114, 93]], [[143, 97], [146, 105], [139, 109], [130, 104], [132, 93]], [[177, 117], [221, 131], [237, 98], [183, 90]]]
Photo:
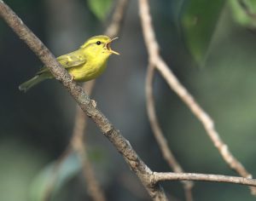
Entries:
[[[55, 162], [58, 163], [58, 162]], [[59, 169], [55, 169], [55, 163], [47, 165], [32, 181], [30, 188], [30, 200], [42, 201], [45, 195], [49, 193], [52, 196], [63, 187], [67, 181], [79, 173], [81, 164], [76, 154], [70, 154], [62, 161]]]

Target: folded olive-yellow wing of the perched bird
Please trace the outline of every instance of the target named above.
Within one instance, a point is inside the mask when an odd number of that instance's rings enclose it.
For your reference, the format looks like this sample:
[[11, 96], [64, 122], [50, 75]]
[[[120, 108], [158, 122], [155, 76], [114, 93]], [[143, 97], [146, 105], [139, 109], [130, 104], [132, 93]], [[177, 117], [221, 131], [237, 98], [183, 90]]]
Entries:
[[[79, 50], [69, 53], [67, 55], [61, 55], [57, 58], [57, 60], [64, 68], [80, 66], [86, 63], [84, 55]], [[49, 72], [48, 68], [41, 68], [37, 74], [41, 74], [43, 72]]]

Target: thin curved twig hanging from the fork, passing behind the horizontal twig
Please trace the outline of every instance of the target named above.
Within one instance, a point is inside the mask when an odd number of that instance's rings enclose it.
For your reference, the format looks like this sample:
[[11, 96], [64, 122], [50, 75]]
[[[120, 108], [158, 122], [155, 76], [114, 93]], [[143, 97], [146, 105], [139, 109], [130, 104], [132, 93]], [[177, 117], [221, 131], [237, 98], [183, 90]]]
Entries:
[[[160, 147], [163, 157], [166, 159], [166, 162], [169, 164], [171, 169], [176, 173], [183, 173], [183, 169], [178, 164], [177, 159], [174, 157], [172, 150], [168, 146], [165, 135], [163, 135], [162, 129], [156, 117], [155, 107], [154, 107], [154, 95], [153, 95], [153, 80], [154, 80], [154, 66], [148, 65], [148, 71], [146, 76], [146, 97], [147, 97], [147, 111], [148, 119], [153, 130], [154, 137]], [[187, 201], [193, 200], [192, 195], [192, 181], [182, 181], [183, 188], [185, 192], [185, 197]]]

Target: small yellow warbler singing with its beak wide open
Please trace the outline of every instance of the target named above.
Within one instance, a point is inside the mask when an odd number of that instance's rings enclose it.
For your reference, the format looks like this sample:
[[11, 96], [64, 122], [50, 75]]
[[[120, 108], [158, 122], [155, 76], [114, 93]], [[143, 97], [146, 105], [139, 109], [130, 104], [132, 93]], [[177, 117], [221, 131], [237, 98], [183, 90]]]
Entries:
[[[110, 43], [115, 39], [117, 37], [111, 39], [103, 35], [90, 37], [78, 50], [67, 55], [61, 55], [57, 57], [57, 60], [61, 66], [67, 69], [73, 80], [86, 82], [95, 79], [106, 69], [109, 56], [112, 54], [119, 55], [110, 47]], [[33, 78], [21, 83], [19, 89], [26, 92], [34, 85], [50, 78], [54, 77], [44, 66]]]

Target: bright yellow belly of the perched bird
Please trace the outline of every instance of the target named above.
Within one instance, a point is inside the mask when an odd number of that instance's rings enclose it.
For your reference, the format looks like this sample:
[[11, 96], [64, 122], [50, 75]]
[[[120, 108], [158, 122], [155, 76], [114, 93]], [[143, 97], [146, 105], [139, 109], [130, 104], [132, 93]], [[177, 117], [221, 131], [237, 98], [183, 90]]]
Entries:
[[73, 76], [73, 79], [78, 82], [86, 82], [99, 77], [106, 69], [106, 62], [102, 64], [90, 65], [86, 63], [84, 66], [76, 66], [68, 69], [68, 72]]

